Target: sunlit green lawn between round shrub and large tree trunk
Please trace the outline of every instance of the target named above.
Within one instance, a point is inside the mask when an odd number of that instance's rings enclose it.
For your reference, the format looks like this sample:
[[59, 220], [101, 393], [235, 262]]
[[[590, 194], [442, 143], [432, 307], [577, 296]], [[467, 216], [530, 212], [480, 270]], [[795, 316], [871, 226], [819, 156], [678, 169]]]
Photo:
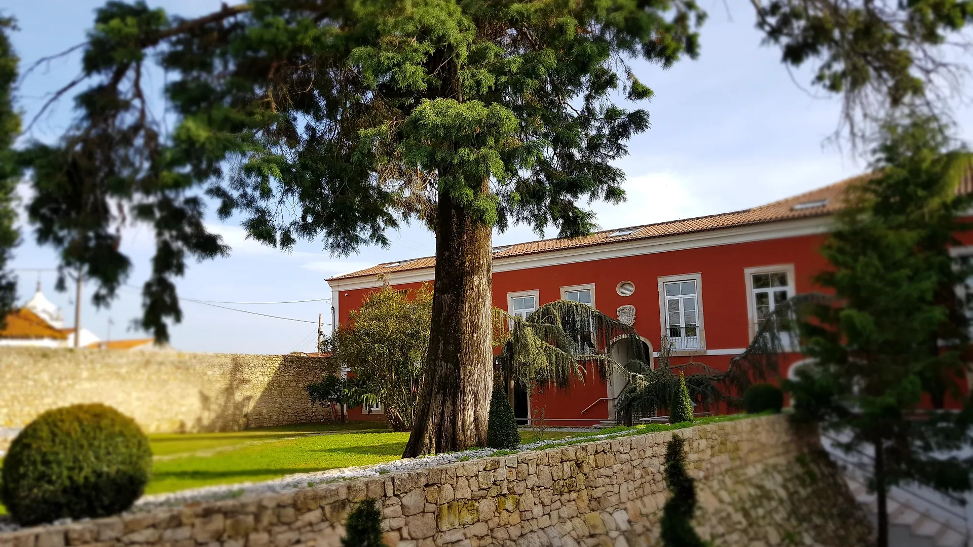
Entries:
[[[594, 433], [523, 431], [523, 442]], [[311, 423], [231, 433], [149, 435], [155, 455], [146, 493], [275, 479], [292, 473], [370, 465], [402, 456], [409, 433], [384, 423]], [[0, 459], [0, 466], [3, 460]], [[0, 505], [0, 514], [3, 514]]]

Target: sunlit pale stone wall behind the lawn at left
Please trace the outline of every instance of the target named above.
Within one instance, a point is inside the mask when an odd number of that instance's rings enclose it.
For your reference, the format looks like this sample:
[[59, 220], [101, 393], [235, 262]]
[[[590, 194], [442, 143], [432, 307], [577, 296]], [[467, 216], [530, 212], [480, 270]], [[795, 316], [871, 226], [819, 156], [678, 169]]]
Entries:
[[[0, 428], [104, 403], [149, 432], [234, 431], [330, 418], [307, 383], [327, 359], [292, 355], [0, 347]], [[2, 447], [0, 447], [2, 448]]]

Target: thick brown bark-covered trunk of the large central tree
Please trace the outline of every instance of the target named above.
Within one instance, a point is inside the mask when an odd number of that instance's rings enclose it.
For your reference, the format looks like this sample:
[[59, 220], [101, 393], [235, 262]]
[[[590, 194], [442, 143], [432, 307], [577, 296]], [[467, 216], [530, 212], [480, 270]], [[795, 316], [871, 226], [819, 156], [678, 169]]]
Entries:
[[486, 446], [493, 389], [491, 239], [490, 226], [440, 196], [432, 330], [404, 457]]

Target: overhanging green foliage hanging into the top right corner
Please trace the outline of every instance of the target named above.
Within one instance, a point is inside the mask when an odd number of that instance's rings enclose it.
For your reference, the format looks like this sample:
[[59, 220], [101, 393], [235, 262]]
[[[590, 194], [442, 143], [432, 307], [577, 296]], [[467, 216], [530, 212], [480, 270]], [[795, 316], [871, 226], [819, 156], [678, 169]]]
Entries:
[[[813, 85], [844, 95], [844, 119], [853, 136], [871, 136], [874, 122], [905, 106], [929, 112], [942, 97], [942, 46], [973, 20], [973, 2], [914, 0], [761, 0], [757, 26], [780, 46], [791, 66], [816, 61]], [[957, 50], [956, 53], [962, 50]], [[960, 54], [961, 55], [961, 54]], [[867, 127], [861, 127], [864, 123]]]

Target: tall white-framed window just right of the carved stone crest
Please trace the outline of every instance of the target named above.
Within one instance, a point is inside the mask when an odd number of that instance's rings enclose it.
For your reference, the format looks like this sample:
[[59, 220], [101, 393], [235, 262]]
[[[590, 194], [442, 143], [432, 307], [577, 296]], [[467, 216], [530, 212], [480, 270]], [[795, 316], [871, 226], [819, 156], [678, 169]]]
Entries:
[[703, 274], [659, 277], [662, 335], [673, 351], [705, 351], [702, 297]]

